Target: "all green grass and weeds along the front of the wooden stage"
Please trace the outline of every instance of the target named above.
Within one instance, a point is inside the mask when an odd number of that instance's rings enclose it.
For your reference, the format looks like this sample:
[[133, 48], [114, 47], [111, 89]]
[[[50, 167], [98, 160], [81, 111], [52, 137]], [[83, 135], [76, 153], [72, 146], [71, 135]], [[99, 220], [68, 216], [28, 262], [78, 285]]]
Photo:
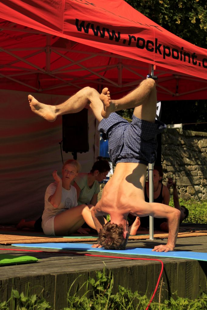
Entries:
[[[77, 278], [78, 279], [78, 278]], [[106, 275], [103, 270], [96, 272], [96, 279], [88, 280], [78, 289], [77, 279], [72, 283], [68, 292], [67, 307], [62, 310], [145, 310], [149, 304], [149, 298], [141, 296], [137, 291], [132, 292], [123, 286], [118, 286], [118, 292], [113, 293], [113, 274]], [[162, 282], [161, 282], [162, 283]], [[161, 294], [161, 286], [159, 294]], [[28, 286], [29, 287], [29, 286]], [[80, 291], [84, 293], [80, 293]], [[75, 292], [75, 293], [72, 293]], [[19, 294], [12, 290], [8, 301], [0, 302], [0, 310], [47, 310], [53, 308], [45, 299], [36, 294], [27, 292]], [[207, 294], [202, 294], [195, 300], [178, 297], [173, 294], [169, 300], [162, 303], [152, 302], [149, 310], [207, 310]]]

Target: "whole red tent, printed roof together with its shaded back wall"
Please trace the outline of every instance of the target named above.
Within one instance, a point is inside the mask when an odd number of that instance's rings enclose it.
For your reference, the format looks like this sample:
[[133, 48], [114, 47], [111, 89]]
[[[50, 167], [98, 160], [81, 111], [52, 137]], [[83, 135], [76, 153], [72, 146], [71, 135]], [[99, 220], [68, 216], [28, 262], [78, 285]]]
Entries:
[[[52, 171], [61, 167], [61, 118], [51, 124], [31, 113], [28, 93], [58, 104], [84, 86], [108, 86], [116, 98], [153, 65], [159, 100], [206, 99], [206, 50], [123, 0], [1, 0], [0, 51], [0, 224], [41, 214]], [[83, 172], [98, 149], [92, 115], [89, 123], [90, 149], [78, 156]]]

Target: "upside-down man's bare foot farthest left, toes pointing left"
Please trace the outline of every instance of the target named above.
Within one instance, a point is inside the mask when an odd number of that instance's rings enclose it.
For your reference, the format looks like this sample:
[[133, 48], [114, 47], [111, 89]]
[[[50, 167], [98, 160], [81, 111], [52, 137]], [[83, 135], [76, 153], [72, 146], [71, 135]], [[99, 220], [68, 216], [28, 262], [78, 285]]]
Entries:
[[49, 122], [54, 122], [56, 120], [55, 106], [40, 103], [32, 95], [28, 95], [28, 100], [32, 112]]

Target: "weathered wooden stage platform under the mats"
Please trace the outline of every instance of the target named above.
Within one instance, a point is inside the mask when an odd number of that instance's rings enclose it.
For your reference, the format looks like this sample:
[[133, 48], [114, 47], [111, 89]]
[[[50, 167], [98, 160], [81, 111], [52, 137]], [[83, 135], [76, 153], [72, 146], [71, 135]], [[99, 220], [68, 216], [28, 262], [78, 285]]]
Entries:
[[[207, 225], [202, 226], [202, 229], [199, 230], [197, 227], [191, 227], [191, 229], [186, 227], [185, 229], [181, 228], [181, 230], [185, 230], [185, 232], [181, 231], [179, 233], [175, 250], [207, 253]], [[18, 232], [15, 231], [10, 233], [0, 231], [0, 253], [31, 255], [40, 260], [31, 264], [0, 267], [0, 301], [7, 300], [11, 296], [12, 288], [19, 292], [25, 292], [29, 284], [32, 294], [42, 294], [54, 309], [63, 309], [67, 306], [67, 292], [73, 281], [81, 275], [77, 280], [80, 287], [89, 276], [95, 277], [96, 270], [103, 270], [103, 268], [113, 272], [114, 292], [117, 290], [118, 285], [121, 285], [130, 288], [132, 291], [137, 290], [141, 294], [145, 294], [147, 291], [147, 295], [150, 297], [155, 289], [161, 269], [161, 264], [157, 261], [83, 256], [86, 252], [78, 252], [82, 255], [76, 255], [75, 251], [67, 252], [65, 250], [11, 246], [12, 243], [23, 242], [72, 242], [71, 239], [59, 237], [48, 238], [50, 241], [46, 241], [47, 237], [37, 236], [34, 232], [23, 232], [23, 235], [20, 232], [18, 235]], [[127, 246], [153, 248], [156, 244], [166, 243], [167, 240], [162, 239], [165, 239], [167, 235], [160, 235], [160, 233], [155, 234], [155, 239], [152, 241], [147, 239], [148, 235], [143, 236], [145, 239], [141, 237], [141, 240], [135, 240], [138, 236], [131, 237], [130, 239], [134, 240], [129, 240]], [[36, 238], [36, 241], [34, 241], [34, 238]], [[38, 238], [43, 240], [40, 241]], [[74, 238], [73, 241], [80, 242], [80, 239], [75, 240]], [[94, 243], [92, 241], [93, 239], [81, 240], [83, 243], [91, 244]], [[17, 249], [19, 251], [16, 251]], [[43, 252], [23, 251], [26, 249], [43, 250]], [[107, 255], [106, 253], [87, 253]], [[113, 256], [118, 257], [120, 255], [114, 254]], [[121, 256], [156, 259], [156, 257], [152, 256], [124, 254]], [[161, 301], [169, 299], [175, 291], [177, 291], [178, 296], [190, 299], [195, 299], [201, 291], [207, 291], [207, 262], [164, 257], [161, 257], [160, 260], [164, 263]], [[158, 301], [158, 297], [159, 294], [157, 293], [154, 300]]]

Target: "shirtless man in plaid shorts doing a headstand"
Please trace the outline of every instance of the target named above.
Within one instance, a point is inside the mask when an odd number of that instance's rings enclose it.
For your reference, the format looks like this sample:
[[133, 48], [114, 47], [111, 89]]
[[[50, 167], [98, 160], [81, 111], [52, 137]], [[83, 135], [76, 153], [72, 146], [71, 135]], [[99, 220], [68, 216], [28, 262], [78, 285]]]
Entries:
[[[125, 249], [129, 235], [127, 216], [131, 213], [137, 216], [134, 229], [139, 226], [138, 217], [167, 218], [168, 242], [155, 246], [153, 251], [172, 251], [178, 235], [180, 211], [164, 204], [145, 202], [144, 197], [146, 168], [156, 158], [156, 135], [165, 128], [162, 122], [155, 121], [155, 81], [151, 78], [142, 81], [119, 100], [111, 100], [107, 88], [99, 95], [90, 87], [83, 88], [57, 106], [42, 104], [31, 95], [28, 98], [32, 111], [50, 122], [58, 115], [79, 112], [88, 104], [100, 122], [98, 130], [108, 138], [109, 155], [116, 168], [103, 189], [101, 200], [92, 209], [99, 233], [98, 244], [93, 247]], [[134, 108], [132, 123], [114, 113], [126, 108]], [[103, 215], [107, 214], [110, 223], [105, 224]]]

